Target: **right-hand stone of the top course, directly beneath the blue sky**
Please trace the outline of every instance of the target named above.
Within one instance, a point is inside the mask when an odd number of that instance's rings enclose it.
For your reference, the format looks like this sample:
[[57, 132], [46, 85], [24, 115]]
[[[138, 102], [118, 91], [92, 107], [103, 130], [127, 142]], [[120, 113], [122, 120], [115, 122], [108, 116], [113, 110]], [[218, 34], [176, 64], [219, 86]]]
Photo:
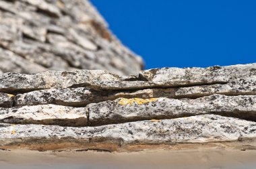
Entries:
[[236, 78], [256, 76], [256, 64], [213, 66], [209, 68], [156, 68], [143, 70], [138, 77], [161, 87], [225, 83]]

